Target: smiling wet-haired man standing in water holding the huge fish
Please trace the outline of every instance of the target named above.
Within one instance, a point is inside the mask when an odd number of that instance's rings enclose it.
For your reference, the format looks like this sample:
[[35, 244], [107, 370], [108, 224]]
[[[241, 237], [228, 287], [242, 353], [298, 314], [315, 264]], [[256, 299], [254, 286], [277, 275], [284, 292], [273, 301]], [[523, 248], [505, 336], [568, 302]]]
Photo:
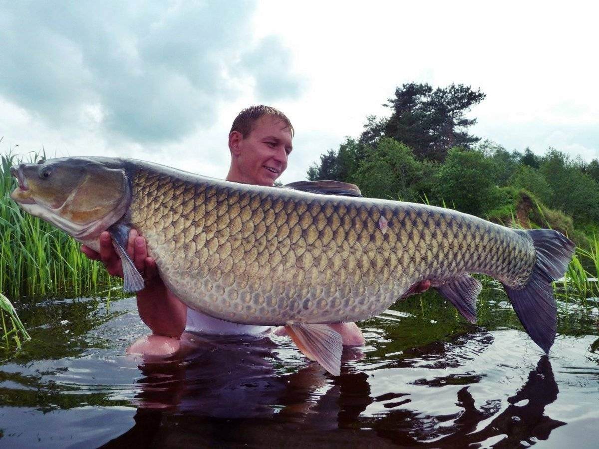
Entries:
[[[267, 106], [247, 108], [237, 116], [229, 132], [231, 166], [226, 180], [237, 183], [273, 186], [287, 168], [292, 151], [294, 128], [285, 114]], [[81, 251], [94, 260], [102, 260], [108, 273], [123, 276], [120, 259], [108, 232], [100, 236], [100, 252], [82, 246]], [[158, 275], [155, 260], [147, 255], [146, 241], [137, 230], [129, 234], [127, 251], [143, 275], [145, 287], [137, 293], [141, 319], [152, 334], [138, 339], [128, 353], [167, 356], [181, 348], [184, 330], [195, 333], [241, 335], [267, 332], [267, 326], [228, 323], [187, 308], [173, 295]], [[355, 323], [331, 324], [341, 333], [344, 345], [362, 345], [364, 336]], [[281, 333], [278, 330], [277, 333]]]

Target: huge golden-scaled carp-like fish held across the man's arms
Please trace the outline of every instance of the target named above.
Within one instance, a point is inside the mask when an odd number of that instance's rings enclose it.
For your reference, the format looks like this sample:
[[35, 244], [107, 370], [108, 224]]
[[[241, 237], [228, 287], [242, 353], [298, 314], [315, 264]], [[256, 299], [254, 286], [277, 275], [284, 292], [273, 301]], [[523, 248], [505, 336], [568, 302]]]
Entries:
[[334, 375], [341, 336], [326, 324], [373, 317], [423, 280], [474, 323], [481, 285], [470, 273], [491, 275], [534, 342], [547, 352], [555, 338], [551, 282], [574, 251], [555, 230], [346, 196], [359, 195], [353, 184], [252, 186], [130, 159], [67, 157], [11, 173], [11, 198], [28, 213], [96, 250], [110, 231], [126, 290], [143, 287], [125, 251], [135, 227], [186, 305], [234, 323], [285, 325]]

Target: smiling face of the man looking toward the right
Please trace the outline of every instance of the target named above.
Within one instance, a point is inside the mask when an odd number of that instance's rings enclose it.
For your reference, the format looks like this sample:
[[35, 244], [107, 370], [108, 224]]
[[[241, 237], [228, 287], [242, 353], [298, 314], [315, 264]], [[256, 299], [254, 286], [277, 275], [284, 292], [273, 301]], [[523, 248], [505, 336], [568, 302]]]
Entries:
[[287, 168], [291, 129], [277, 117], [260, 117], [249, 135], [239, 134], [237, 139], [229, 139], [229, 145], [237, 155], [238, 182], [272, 186]]

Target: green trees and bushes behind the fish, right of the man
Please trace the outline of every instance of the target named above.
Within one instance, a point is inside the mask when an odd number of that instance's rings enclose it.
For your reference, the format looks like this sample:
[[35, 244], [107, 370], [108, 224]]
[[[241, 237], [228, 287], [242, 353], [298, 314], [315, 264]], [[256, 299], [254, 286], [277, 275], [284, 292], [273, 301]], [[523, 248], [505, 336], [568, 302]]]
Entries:
[[385, 105], [391, 116], [368, 116], [361, 136], [322, 154], [308, 179], [355, 183], [364, 196], [428, 202], [485, 218], [510, 208], [513, 213], [524, 192], [573, 217], [580, 229], [599, 229], [599, 160], [481, 142], [468, 133], [476, 119], [465, 114], [484, 98], [463, 84], [403, 84]]

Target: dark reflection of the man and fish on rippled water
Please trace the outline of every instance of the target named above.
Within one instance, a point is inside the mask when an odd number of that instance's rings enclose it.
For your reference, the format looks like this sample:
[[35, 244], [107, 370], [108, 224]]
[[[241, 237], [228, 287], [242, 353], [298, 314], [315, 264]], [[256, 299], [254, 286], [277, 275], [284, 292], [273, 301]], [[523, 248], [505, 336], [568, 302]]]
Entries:
[[[491, 339], [479, 341], [484, 345]], [[437, 345], [421, 350], [435, 354]], [[355, 360], [355, 352], [356, 349], [346, 350], [344, 358]], [[275, 357], [268, 338], [246, 338], [241, 342], [238, 339], [204, 339], [182, 363], [140, 366], [144, 377], [139, 381], [141, 391], [135, 397], [138, 406], [135, 426], [113, 439], [108, 446], [133, 444], [139, 438], [148, 442], [158, 440], [161, 444], [170, 441], [168, 434], [181, 430], [181, 421], [173, 421], [173, 416], [184, 417], [184, 423], [195, 426], [192, 434], [195, 444], [210, 442], [213, 432], [225, 427], [228, 432], [231, 429], [237, 432], [237, 435], [229, 435], [229, 442], [259, 444], [263, 441], [261, 436], [257, 440], [238, 439], [252, 433], [248, 430], [256, 425], [256, 420], [266, 421], [262, 426], [276, 428], [279, 428], [278, 424], [293, 423], [294, 432], [305, 429], [310, 433], [363, 428], [368, 423], [377, 436], [390, 442], [401, 445], [427, 445], [423, 443], [428, 442], [431, 447], [492, 441], [506, 435], [503, 443], [508, 447], [521, 441], [531, 444], [534, 439], [547, 439], [552, 429], [565, 424], [544, 415], [546, 405], [558, 397], [558, 386], [547, 356], [540, 358], [524, 385], [515, 386], [513, 395], [507, 398], [507, 407], [502, 409], [501, 401], [493, 401], [479, 409], [468, 386], [464, 386], [457, 390], [454, 399], [462, 410], [435, 417], [422, 416], [419, 411], [401, 407], [410, 402], [409, 389], [405, 393], [373, 398], [369, 376], [364, 372], [346, 368], [340, 377], [329, 382], [323, 369], [311, 364], [292, 374], [278, 375], [268, 362]], [[441, 387], [480, 380], [482, 378], [477, 375], [449, 375], [430, 381], [416, 380], [413, 384]], [[391, 412], [374, 421], [362, 422], [362, 412], [374, 401], [385, 401], [385, 408], [392, 409]], [[170, 418], [167, 425], [165, 422], [161, 425], [162, 412], [158, 410], [167, 409]], [[489, 418], [492, 420], [488, 421]], [[168, 425], [173, 422], [179, 425]], [[284, 431], [279, 436], [282, 444], [290, 437]], [[341, 434], [338, 442], [343, 443], [344, 438], [346, 435]], [[331, 441], [335, 441], [335, 437]]]

